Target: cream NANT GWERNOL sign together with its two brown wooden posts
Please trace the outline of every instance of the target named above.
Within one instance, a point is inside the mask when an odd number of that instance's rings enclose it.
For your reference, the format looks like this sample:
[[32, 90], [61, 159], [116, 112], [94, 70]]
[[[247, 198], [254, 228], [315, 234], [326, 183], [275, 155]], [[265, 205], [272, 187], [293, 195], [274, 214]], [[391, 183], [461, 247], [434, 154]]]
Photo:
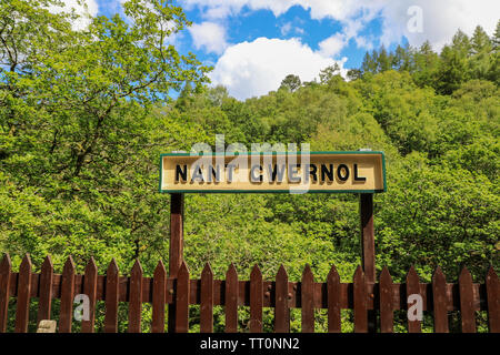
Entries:
[[[171, 194], [169, 277], [182, 263], [184, 193], [358, 193], [362, 266], [374, 283], [373, 193], [386, 189], [382, 152], [162, 154], [159, 190]], [[169, 332], [174, 318], [169, 306]]]

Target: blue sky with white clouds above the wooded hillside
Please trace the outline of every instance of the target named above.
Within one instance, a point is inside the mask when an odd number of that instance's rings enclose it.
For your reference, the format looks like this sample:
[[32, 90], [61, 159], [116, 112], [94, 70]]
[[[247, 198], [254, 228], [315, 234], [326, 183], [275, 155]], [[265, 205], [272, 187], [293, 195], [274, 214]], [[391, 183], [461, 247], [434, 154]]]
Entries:
[[[87, 0], [91, 16], [121, 12], [124, 0]], [[76, 0], [64, 0], [77, 7]], [[318, 78], [334, 63], [346, 75], [367, 51], [384, 45], [434, 50], [458, 29], [480, 24], [492, 34], [499, 0], [173, 0], [192, 26], [170, 39], [181, 53], [193, 52], [213, 67], [211, 85], [222, 84], [246, 100], [277, 90], [288, 74]], [[76, 24], [84, 27], [84, 20]]]

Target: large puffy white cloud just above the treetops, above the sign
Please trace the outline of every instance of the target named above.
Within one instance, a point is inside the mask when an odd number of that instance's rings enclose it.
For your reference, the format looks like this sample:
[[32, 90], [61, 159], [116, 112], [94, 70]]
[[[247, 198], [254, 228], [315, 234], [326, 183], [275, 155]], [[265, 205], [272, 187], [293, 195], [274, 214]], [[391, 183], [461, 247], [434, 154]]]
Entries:
[[[338, 61], [339, 65], [343, 62]], [[333, 63], [333, 59], [312, 51], [298, 39], [258, 38], [229, 47], [210, 78], [214, 85], [222, 84], [231, 95], [244, 100], [277, 90], [288, 74], [312, 81]]]

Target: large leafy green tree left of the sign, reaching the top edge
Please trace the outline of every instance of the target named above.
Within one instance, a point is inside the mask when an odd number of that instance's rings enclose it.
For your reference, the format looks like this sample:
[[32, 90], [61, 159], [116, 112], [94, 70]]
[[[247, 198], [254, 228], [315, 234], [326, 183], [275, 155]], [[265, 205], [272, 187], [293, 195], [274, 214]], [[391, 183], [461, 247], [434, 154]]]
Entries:
[[200, 136], [149, 112], [183, 82], [200, 87], [208, 68], [167, 42], [189, 24], [181, 8], [131, 0], [127, 21], [101, 16], [76, 31], [76, 16], [50, 4], [0, 4], [2, 196], [19, 205], [2, 210], [0, 245], [37, 263], [50, 253], [128, 265], [164, 247], [168, 199], [150, 193], [158, 154]]

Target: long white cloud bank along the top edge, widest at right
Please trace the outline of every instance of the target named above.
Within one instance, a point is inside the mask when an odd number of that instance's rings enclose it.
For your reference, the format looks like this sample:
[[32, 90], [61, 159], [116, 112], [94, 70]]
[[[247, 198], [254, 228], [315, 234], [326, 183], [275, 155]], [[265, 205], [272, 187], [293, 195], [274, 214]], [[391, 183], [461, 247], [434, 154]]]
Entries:
[[[219, 18], [238, 14], [243, 7], [267, 9], [278, 17], [292, 6], [301, 6], [311, 11], [312, 19], [340, 21], [347, 40], [357, 38], [369, 21], [381, 16], [381, 41], [384, 44], [399, 42], [406, 36], [412, 45], [420, 45], [429, 39], [436, 49], [449, 42], [458, 29], [472, 33], [473, 28], [480, 24], [492, 33], [500, 13], [498, 0], [182, 0], [182, 4], [199, 7], [203, 13]], [[423, 10], [421, 33], [408, 31], [408, 9], [411, 6]], [[362, 40], [358, 39], [358, 43]]]

